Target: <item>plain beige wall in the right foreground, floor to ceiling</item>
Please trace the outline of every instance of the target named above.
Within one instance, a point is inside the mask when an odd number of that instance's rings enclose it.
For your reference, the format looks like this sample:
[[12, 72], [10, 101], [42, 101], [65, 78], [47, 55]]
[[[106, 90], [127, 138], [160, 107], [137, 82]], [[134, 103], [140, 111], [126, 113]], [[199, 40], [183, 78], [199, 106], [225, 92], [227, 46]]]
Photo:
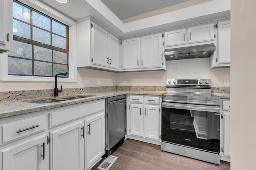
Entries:
[[231, 1], [231, 170], [256, 169], [255, 7], [255, 0]]

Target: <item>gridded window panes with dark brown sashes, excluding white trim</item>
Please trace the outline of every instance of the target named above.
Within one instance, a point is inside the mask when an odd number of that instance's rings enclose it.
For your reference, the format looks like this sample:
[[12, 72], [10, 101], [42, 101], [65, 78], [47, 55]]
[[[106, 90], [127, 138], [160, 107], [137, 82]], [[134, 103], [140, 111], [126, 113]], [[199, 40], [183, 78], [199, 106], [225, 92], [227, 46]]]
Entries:
[[8, 74], [54, 76], [68, 71], [68, 26], [13, 1], [13, 47]]

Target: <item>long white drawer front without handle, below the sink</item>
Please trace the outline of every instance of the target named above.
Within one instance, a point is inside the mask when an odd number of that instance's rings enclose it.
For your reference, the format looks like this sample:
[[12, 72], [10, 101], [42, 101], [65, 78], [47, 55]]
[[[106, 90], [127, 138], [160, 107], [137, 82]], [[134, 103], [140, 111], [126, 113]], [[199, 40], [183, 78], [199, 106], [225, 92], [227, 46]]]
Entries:
[[50, 114], [50, 128], [62, 123], [73, 121], [80, 117], [85, 117], [99, 111], [105, 111], [105, 100], [92, 101], [83, 104], [76, 104], [73, 106], [66, 106], [51, 111]]

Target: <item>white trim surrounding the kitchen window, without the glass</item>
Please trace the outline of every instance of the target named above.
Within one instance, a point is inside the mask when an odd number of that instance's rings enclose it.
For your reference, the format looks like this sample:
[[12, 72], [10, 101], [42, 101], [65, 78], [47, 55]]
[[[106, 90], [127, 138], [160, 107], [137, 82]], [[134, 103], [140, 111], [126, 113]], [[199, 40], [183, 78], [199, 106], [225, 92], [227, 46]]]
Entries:
[[[68, 25], [68, 78], [58, 78], [59, 82], [77, 82], [76, 70], [76, 21], [60, 14], [50, 6], [34, 0], [18, 0], [65, 25]], [[12, 20], [11, 20], [12, 22]], [[0, 81], [54, 82], [54, 77], [8, 75], [8, 54], [0, 55]]]

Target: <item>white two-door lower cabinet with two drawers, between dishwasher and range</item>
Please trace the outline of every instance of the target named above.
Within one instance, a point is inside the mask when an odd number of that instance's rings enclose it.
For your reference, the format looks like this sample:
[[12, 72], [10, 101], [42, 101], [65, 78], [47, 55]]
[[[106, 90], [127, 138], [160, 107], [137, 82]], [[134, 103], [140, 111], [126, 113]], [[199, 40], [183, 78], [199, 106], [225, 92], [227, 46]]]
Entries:
[[160, 96], [127, 95], [127, 137], [160, 145]]

